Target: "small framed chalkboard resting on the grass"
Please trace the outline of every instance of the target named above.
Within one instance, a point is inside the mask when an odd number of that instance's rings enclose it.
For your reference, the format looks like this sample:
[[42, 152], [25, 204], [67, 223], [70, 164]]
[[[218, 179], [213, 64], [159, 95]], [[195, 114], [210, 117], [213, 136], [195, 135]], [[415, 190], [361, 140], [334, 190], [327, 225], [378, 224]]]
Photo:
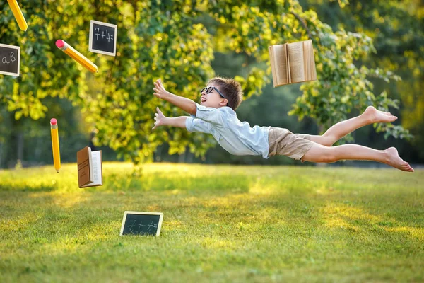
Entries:
[[119, 235], [159, 236], [162, 219], [162, 212], [124, 212]]

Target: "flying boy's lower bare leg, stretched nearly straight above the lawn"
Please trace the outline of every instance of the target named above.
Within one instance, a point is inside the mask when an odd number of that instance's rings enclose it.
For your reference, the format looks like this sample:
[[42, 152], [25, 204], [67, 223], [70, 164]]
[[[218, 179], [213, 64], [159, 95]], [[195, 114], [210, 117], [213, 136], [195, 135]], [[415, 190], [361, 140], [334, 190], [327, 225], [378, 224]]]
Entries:
[[316, 163], [333, 163], [340, 160], [368, 160], [385, 163], [401, 171], [413, 172], [413, 168], [409, 166], [408, 162], [399, 157], [394, 147], [379, 151], [358, 144], [343, 144], [341, 146], [314, 144], [302, 157], [302, 160]]

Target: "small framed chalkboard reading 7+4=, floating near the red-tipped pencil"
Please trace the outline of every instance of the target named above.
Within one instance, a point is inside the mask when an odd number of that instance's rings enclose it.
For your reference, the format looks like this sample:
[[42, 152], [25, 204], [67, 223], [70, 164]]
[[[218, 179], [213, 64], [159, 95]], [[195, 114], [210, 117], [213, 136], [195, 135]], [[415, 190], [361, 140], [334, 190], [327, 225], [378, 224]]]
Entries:
[[88, 50], [115, 56], [117, 52], [117, 30], [117, 25], [91, 20]]

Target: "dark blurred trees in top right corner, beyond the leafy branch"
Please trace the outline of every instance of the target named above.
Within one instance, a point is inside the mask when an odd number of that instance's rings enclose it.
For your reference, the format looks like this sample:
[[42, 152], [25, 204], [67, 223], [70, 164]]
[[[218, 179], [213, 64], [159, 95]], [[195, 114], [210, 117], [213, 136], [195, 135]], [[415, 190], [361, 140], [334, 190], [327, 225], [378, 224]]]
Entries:
[[[423, 1], [349, 1], [343, 8], [334, 2], [301, 1], [317, 11], [333, 28], [343, 27], [370, 36], [377, 53], [361, 60], [375, 69], [390, 70], [402, 77], [384, 85], [373, 80], [375, 89], [386, 89], [389, 97], [399, 100], [401, 125], [414, 134], [411, 144], [417, 148], [424, 143], [424, 3]], [[389, 126], [390, 128], [391, 126]], [[408, 132], [401, 130], [409, 136]], [[389, 133], [390, 132], [386, 132]], [[394, 134], [391, 134], [394, 136]], [[421, 158], [424, 152], [418, 149]]]

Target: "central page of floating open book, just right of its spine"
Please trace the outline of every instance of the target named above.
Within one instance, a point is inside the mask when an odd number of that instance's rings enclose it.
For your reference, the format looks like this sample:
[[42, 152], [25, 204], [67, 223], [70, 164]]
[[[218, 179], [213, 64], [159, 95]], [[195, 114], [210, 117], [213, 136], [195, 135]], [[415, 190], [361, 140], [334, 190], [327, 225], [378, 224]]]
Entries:
[[305, 66], [303, 59], [303, 42], [288, 43], [288, 67], [290, 69], [290, 83], [305, 81]]

